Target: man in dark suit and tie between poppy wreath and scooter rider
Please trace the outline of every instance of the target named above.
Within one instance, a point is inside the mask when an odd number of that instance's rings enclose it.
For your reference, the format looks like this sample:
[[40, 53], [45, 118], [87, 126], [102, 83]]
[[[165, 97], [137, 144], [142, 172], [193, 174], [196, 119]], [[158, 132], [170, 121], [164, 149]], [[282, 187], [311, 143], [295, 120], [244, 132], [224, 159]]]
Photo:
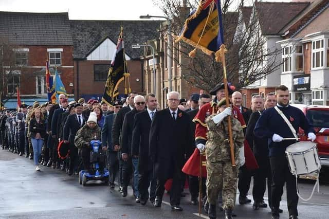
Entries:
[[78, 148], [75, 147], [74, 138], [78, 130], [84, 125], [88, 118], [82, 115], [82, 103], [77, 103], [75, 105], [75, 114], [69, 115], [66, 119], [63, 128], [63, 140], [64, 143], [69, 143], [70, 150], [70, 162], [68, 168], [68, 175], [72, 175], [75, 171], [77, 172], [78, 165]]

